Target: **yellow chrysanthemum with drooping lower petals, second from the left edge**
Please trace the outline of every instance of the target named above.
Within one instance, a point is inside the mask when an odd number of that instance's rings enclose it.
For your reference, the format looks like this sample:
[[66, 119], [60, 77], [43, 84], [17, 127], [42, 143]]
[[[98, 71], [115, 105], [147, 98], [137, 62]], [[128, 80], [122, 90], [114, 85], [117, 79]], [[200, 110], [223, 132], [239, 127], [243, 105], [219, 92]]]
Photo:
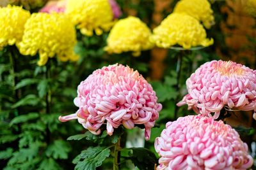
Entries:
[[18, 47], [23, 55], [39, 52], [39, 66], [48, 58], [58, 57], [61, 61], [75, 61], [78, 56], [73, 48], [76, 44], [76, 29], [70, 19], [58, 13], [33, 13], [25, 25], [24, 36]]

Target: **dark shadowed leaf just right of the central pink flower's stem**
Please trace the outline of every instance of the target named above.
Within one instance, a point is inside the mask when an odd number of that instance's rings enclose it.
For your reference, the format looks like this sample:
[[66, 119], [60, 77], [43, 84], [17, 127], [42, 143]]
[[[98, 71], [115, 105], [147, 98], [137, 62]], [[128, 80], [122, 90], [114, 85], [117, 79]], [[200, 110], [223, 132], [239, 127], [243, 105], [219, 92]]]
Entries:
[[137, 166], [141, 170], [153, 170], [157, 164], [156, 155], [147, 148], [124, 148], [123, 150], [124, 152], [125, 150], [129, 150], [129, 157], [134, 163], [134, 166]]

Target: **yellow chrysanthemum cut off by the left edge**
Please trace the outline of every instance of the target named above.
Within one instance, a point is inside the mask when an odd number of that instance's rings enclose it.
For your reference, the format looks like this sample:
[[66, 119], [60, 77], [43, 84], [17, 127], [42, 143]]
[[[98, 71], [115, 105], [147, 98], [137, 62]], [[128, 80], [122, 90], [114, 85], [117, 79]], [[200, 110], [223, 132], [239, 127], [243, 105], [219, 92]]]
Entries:
[[21, 41], [24, 25], [29, 17], [29, 11], [20, 6], [8, 5], [0, 8], [0, 50]]

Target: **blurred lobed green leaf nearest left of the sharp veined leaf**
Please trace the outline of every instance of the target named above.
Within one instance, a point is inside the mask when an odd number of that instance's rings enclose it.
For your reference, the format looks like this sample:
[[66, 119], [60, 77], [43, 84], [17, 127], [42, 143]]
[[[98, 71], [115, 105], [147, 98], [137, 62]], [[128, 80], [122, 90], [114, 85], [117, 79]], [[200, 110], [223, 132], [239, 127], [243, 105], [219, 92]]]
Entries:
[[53, 157], [54, 159], [67, 159], [68, 152], [71, 148], [66, 141], [55, 140], [50, 146], [48, 146], [45, 154], [47, 157]]

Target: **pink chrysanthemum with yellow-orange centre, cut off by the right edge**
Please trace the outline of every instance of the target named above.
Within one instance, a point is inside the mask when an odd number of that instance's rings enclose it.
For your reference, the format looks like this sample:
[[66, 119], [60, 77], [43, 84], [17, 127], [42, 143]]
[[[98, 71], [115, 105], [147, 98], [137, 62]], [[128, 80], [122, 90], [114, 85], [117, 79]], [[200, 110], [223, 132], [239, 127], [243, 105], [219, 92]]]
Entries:
[[[206, 62], [186, 81], [188, 94], [177, 105], [218, 118], [228, 110], [256, 111], [256, 71], [232, 61]], [[253, 114], [253, 118], [256, 113]]]

